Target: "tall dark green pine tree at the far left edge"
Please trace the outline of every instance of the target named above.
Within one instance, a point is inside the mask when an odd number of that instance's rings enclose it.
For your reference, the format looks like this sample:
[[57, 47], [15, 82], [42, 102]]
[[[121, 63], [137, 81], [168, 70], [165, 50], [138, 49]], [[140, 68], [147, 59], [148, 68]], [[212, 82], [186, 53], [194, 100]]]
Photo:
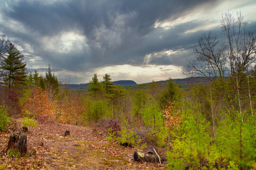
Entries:
[[7, 54], [1, 61], [1, 69], [3, 70], [3, 84], [8, 88], [26, 85], [26, 62], [24, 56], [16, 49], [15, 45], [9, 43]]

